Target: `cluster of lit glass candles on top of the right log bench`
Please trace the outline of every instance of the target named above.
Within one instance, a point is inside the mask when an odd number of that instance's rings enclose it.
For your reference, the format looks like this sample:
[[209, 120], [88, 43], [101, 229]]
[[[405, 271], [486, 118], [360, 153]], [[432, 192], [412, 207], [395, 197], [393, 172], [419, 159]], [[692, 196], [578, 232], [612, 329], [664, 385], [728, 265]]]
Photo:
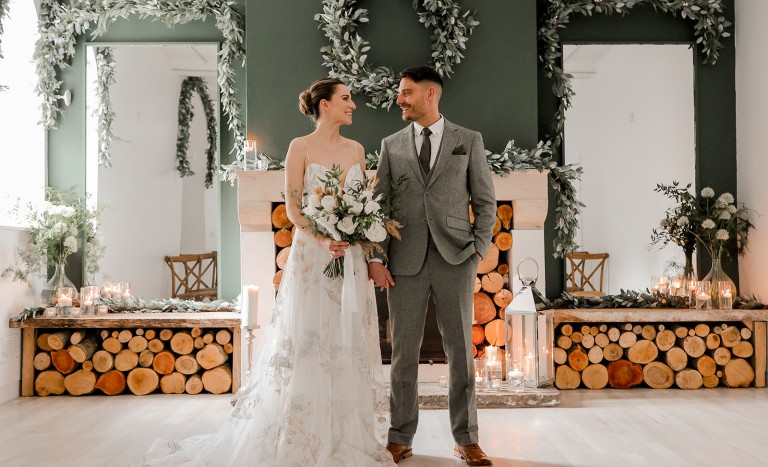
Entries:
[[[713, 294], [712, 287], [718, 287], [718, 293]], [[730, 281], [719, 281], [712, 284], [711, 281], [685, 281], [683, 276], [651, 276], [651, 292], [670, 295], [684, 295], [688, 297], [689, 307], [693, 310], [709, 310], [719, 308], [730, 310], [733, 308], [733, 284]], [[720, 302], [712, 303], [712, 295], [719, 297]], [[719, 305], [715, 307], [714, 305]]]

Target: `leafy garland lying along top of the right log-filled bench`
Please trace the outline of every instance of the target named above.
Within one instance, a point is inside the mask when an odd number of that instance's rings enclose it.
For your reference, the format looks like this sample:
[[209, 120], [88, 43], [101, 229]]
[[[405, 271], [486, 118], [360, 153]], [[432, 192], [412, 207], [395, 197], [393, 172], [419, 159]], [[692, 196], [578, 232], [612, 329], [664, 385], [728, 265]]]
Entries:
[[[679, 308], [689, 309], [688, 299], [677, 295], [663, 294], [645, 290], [621, 290], [616, 295], [603, 295], [602, 297], [576, 297], [563, 292], [560, 298], [552, 301], [551, 307], [562, 308]], [[756, 297], [737, 297], [733, 301], [733, 308], [739, 310], [764, 310], [768, 305], [761, 303]], [[691, 310], [695, 312], [696, 310]]]

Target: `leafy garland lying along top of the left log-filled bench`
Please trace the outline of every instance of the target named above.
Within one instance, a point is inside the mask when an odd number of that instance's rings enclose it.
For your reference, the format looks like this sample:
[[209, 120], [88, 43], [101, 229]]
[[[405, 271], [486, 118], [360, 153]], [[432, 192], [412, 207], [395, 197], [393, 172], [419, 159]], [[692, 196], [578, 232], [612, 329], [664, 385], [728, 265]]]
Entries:
[[[215, 300], [212, 302], [200, 302], [197, 300], [182, 300], [179, 298], [164, 298], [157, 300], [143, 300], [131, 297], [128, 299], [112, 300], [100, 298], [97, 304], [107, 305], [110, 313], [202, 313], [209, 311], [240, 312], [237, 302]], [[16, 323], [32, 317], [40, 317], [45, 308], [31, 307], [16, 316], [11, 317], [11, 322]], [[96, 315], [98, 317], [99, 315]]]

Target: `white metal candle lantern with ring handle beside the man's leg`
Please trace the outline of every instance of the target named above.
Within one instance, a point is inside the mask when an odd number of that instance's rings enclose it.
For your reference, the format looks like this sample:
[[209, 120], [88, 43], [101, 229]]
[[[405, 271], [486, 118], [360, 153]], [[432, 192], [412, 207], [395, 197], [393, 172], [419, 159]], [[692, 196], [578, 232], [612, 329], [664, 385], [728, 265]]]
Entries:
[[[523, 261], [531, 260], [526, 258]], [[522, 261], [521, 261], [522, 263]], [[534, 261], [535, 263], [535, 261]], [[520, 264], [518, 263], [518, 277]], [[538, 269], [538, 265], [537, 265]], [[536, 276], [522, 278], [523, 288], [504, 312], [507, 384], [510, 389], [542, 387], [555, 380], [552, 346], [555, 339], [554, 312], [537, 310], [534, 300]]]

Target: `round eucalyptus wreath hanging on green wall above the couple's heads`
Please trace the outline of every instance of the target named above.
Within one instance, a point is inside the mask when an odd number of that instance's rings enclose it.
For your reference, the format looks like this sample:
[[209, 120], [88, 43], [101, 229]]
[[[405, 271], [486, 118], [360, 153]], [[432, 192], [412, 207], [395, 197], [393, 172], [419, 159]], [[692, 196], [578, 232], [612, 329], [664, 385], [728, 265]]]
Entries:
[[[367, 63], [368, 41], [357, 33], [359, 23], [368, 22], [368, 10], [357, 0], [323, 0], [323, 12], [315, 15], [331, 43], [320, 51], [329, 76], [344, 81], [356, 94], [371, 98], [367, 105], [389, 109], [397, 97], [400, 81], [389, 67]], [[423, 11], [419, 11], [419, 7]], [[440, 76], [450, 77], [453, 67], [464, 58], [469, 36], [479, 24], [469, 12], [461, 12], [454, 0], [413, 0], [419, 22], [432, 30], [432, 65]]]

